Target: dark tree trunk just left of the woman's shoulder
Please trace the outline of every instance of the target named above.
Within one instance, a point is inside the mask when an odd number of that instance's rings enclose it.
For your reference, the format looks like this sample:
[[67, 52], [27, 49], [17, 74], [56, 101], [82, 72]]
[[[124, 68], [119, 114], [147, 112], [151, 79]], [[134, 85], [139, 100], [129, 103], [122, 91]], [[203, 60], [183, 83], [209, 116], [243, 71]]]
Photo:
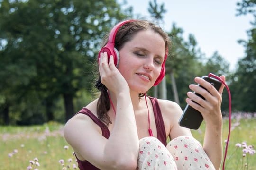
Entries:
[[73, 95], [63, 94], [65, 104], [65, 120], [68, 121], [74, 115]]

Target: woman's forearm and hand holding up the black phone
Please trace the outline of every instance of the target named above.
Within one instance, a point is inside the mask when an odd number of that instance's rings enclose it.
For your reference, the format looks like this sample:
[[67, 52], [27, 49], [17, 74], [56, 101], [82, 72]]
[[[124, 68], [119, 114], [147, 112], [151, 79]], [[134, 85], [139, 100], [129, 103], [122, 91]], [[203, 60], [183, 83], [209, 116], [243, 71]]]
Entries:
[[[221, 76], [221, 79], [225, 81], [225, 76]], [[209, 156], [215, 169], [219, 169], [222, 160], [222, 114], [220, 106], [224, 85], [221, 86], [218, 92], [214, 86], [202, 78], [196, 77], [195, 82], [202, 85], [207, 90], [198, 85], [190, 85], [190, 89], [201, 94], [205, 100], [192, 92], [188, 92], [187, 95], [189, 98], [186, 99], [186, 102], [196, 110], [199, 110], [204, 118], [206, 129], [203, 149]], [[192, 102], [192, 100], [200, 105]]]

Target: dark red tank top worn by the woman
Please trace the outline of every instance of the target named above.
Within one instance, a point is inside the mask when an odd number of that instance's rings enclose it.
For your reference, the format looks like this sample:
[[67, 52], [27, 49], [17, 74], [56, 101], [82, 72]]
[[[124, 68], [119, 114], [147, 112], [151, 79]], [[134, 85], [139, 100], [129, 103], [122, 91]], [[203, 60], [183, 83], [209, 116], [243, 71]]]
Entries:
[[[148, 96], [148, 97], [153, 106], [157, 138], [166, 146], [167, 138], [166, 138], [166, 133], [165, 133], [165, 125], [164, 125], [164, 120], [162, 117], [162, 113], [161, 113], [159, 104], [158, 104], [156, 98], [150, 97], [150, 96]], [[107, 139], [110, 137], [110, 131], [109, 131], [108, 127], [104, 123], [102, 123], [101, 120], [98, 119], [90, 110], [88, 110], [87, 108], [84, 107], [78, 113], [82, 113], [82, 114], [89, 116], [94, 121], [94, 123], [96, 123], [99, 127], [101, 127], [102, 136], [104, 136]], [[76, 113], [76, 114], [78, 114], [78, 113]], [[100, 170], [86, 160], [81, 161], [78, 158], [76, 158], [76, 159], [77, 159], [78, 167], [80, 170]]]

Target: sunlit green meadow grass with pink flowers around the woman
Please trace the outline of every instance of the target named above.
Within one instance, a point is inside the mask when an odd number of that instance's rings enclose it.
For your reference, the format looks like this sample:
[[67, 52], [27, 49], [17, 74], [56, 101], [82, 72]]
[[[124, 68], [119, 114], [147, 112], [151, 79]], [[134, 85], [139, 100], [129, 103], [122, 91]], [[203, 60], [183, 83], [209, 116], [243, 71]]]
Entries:
[[[256, 170], [255, 154], [246, 154], [243, 157], [242, 148], [235, 145], [246, 142], [247, 145], [256, 146], [256, 118], [232, 119], [232, 131], [225, 163], [226, 170]], [[234, 127], [236, 126], [236, 127]], [[29, 161], [38, 159], [40, 166], [33, 165], [39, 170], [63, 170], [73, 164], [77, 166], [73, 150], [68, 148], [62, 133], [62, 124], [50, 122], [41, 126], [30, 127], [0, 127], [0, 169], [26, 170]], [[192, 130], [193, 136], [201, 143], [204, 136], [204, 124], [199, 130]], [[223, 148], [224, 140], [228, 136], [228, 120], [223, 122]], [[60, 160], [64, 160], [64, 164]], [[245, 166], [247, 163], [247, 166]]]

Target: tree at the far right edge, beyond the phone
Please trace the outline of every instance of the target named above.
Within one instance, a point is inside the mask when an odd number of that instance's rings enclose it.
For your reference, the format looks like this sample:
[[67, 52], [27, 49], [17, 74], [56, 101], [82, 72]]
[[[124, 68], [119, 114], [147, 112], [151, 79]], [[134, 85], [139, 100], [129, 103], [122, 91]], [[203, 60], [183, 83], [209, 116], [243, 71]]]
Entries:
[[255, 21], [247, 32], [248, 41], [240, 40], [246, 48], [246, 56], [238, 61], [238, 68], [233, 76], [232, 92], [234, 109], [246, 112], [256, 111], [256, 1], [242, 0], [238, 4], [238, 16], [253, 14]]

